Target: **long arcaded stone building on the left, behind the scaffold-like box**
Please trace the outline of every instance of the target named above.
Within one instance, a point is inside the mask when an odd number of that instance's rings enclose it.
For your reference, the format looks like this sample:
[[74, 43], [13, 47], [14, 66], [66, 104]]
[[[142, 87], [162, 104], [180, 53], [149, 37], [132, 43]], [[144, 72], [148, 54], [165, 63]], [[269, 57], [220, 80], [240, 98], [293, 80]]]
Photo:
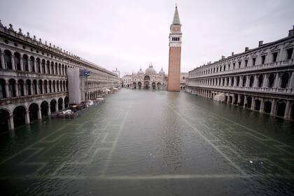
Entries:
[[69, 106], [67, 70], [89, 71], [83, 100], [118, 86], [115, 73], [0, 21], [0, 126], [13, 130]]

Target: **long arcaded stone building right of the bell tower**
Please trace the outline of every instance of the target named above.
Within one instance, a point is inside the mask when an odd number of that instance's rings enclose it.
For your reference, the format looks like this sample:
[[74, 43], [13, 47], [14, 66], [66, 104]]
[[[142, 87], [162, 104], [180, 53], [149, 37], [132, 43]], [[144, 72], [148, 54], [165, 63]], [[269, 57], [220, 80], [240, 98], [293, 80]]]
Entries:
[[189, 71], [186, 91], [294, 119], [294, 27], [285, 38]]

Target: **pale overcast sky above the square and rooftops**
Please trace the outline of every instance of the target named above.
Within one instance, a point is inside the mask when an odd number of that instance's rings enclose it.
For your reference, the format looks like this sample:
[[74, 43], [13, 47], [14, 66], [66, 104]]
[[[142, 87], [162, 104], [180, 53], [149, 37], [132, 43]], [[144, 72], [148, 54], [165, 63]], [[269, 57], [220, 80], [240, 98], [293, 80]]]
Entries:
[[[174, 0], [1, 1], [3, 25], [121, 75], [146, 69], [167, 73]], [[183, 43], [181, 71], [288, 36], [293, 0], [178, 0]]]

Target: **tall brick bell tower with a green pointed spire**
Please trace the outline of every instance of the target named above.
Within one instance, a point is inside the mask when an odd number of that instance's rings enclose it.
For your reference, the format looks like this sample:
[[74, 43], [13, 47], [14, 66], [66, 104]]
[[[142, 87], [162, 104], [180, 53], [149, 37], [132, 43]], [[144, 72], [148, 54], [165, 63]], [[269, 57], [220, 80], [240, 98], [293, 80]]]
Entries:
[[167, 79], [168, 91], [180, 91], [181, 75], [181, 44], [182, 32], [178, 7], [174, 10], [174, 20], [169, 33], [169, 76]]

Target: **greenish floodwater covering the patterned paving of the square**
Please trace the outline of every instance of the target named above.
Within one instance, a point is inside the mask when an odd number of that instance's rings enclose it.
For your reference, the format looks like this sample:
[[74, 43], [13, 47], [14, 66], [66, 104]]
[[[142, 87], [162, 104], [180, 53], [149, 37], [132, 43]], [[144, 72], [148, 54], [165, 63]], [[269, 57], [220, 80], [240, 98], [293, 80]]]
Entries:
[[294, 123], [186, 92], [120, 90], [0, 135], [1, 195], [294, 195]]

